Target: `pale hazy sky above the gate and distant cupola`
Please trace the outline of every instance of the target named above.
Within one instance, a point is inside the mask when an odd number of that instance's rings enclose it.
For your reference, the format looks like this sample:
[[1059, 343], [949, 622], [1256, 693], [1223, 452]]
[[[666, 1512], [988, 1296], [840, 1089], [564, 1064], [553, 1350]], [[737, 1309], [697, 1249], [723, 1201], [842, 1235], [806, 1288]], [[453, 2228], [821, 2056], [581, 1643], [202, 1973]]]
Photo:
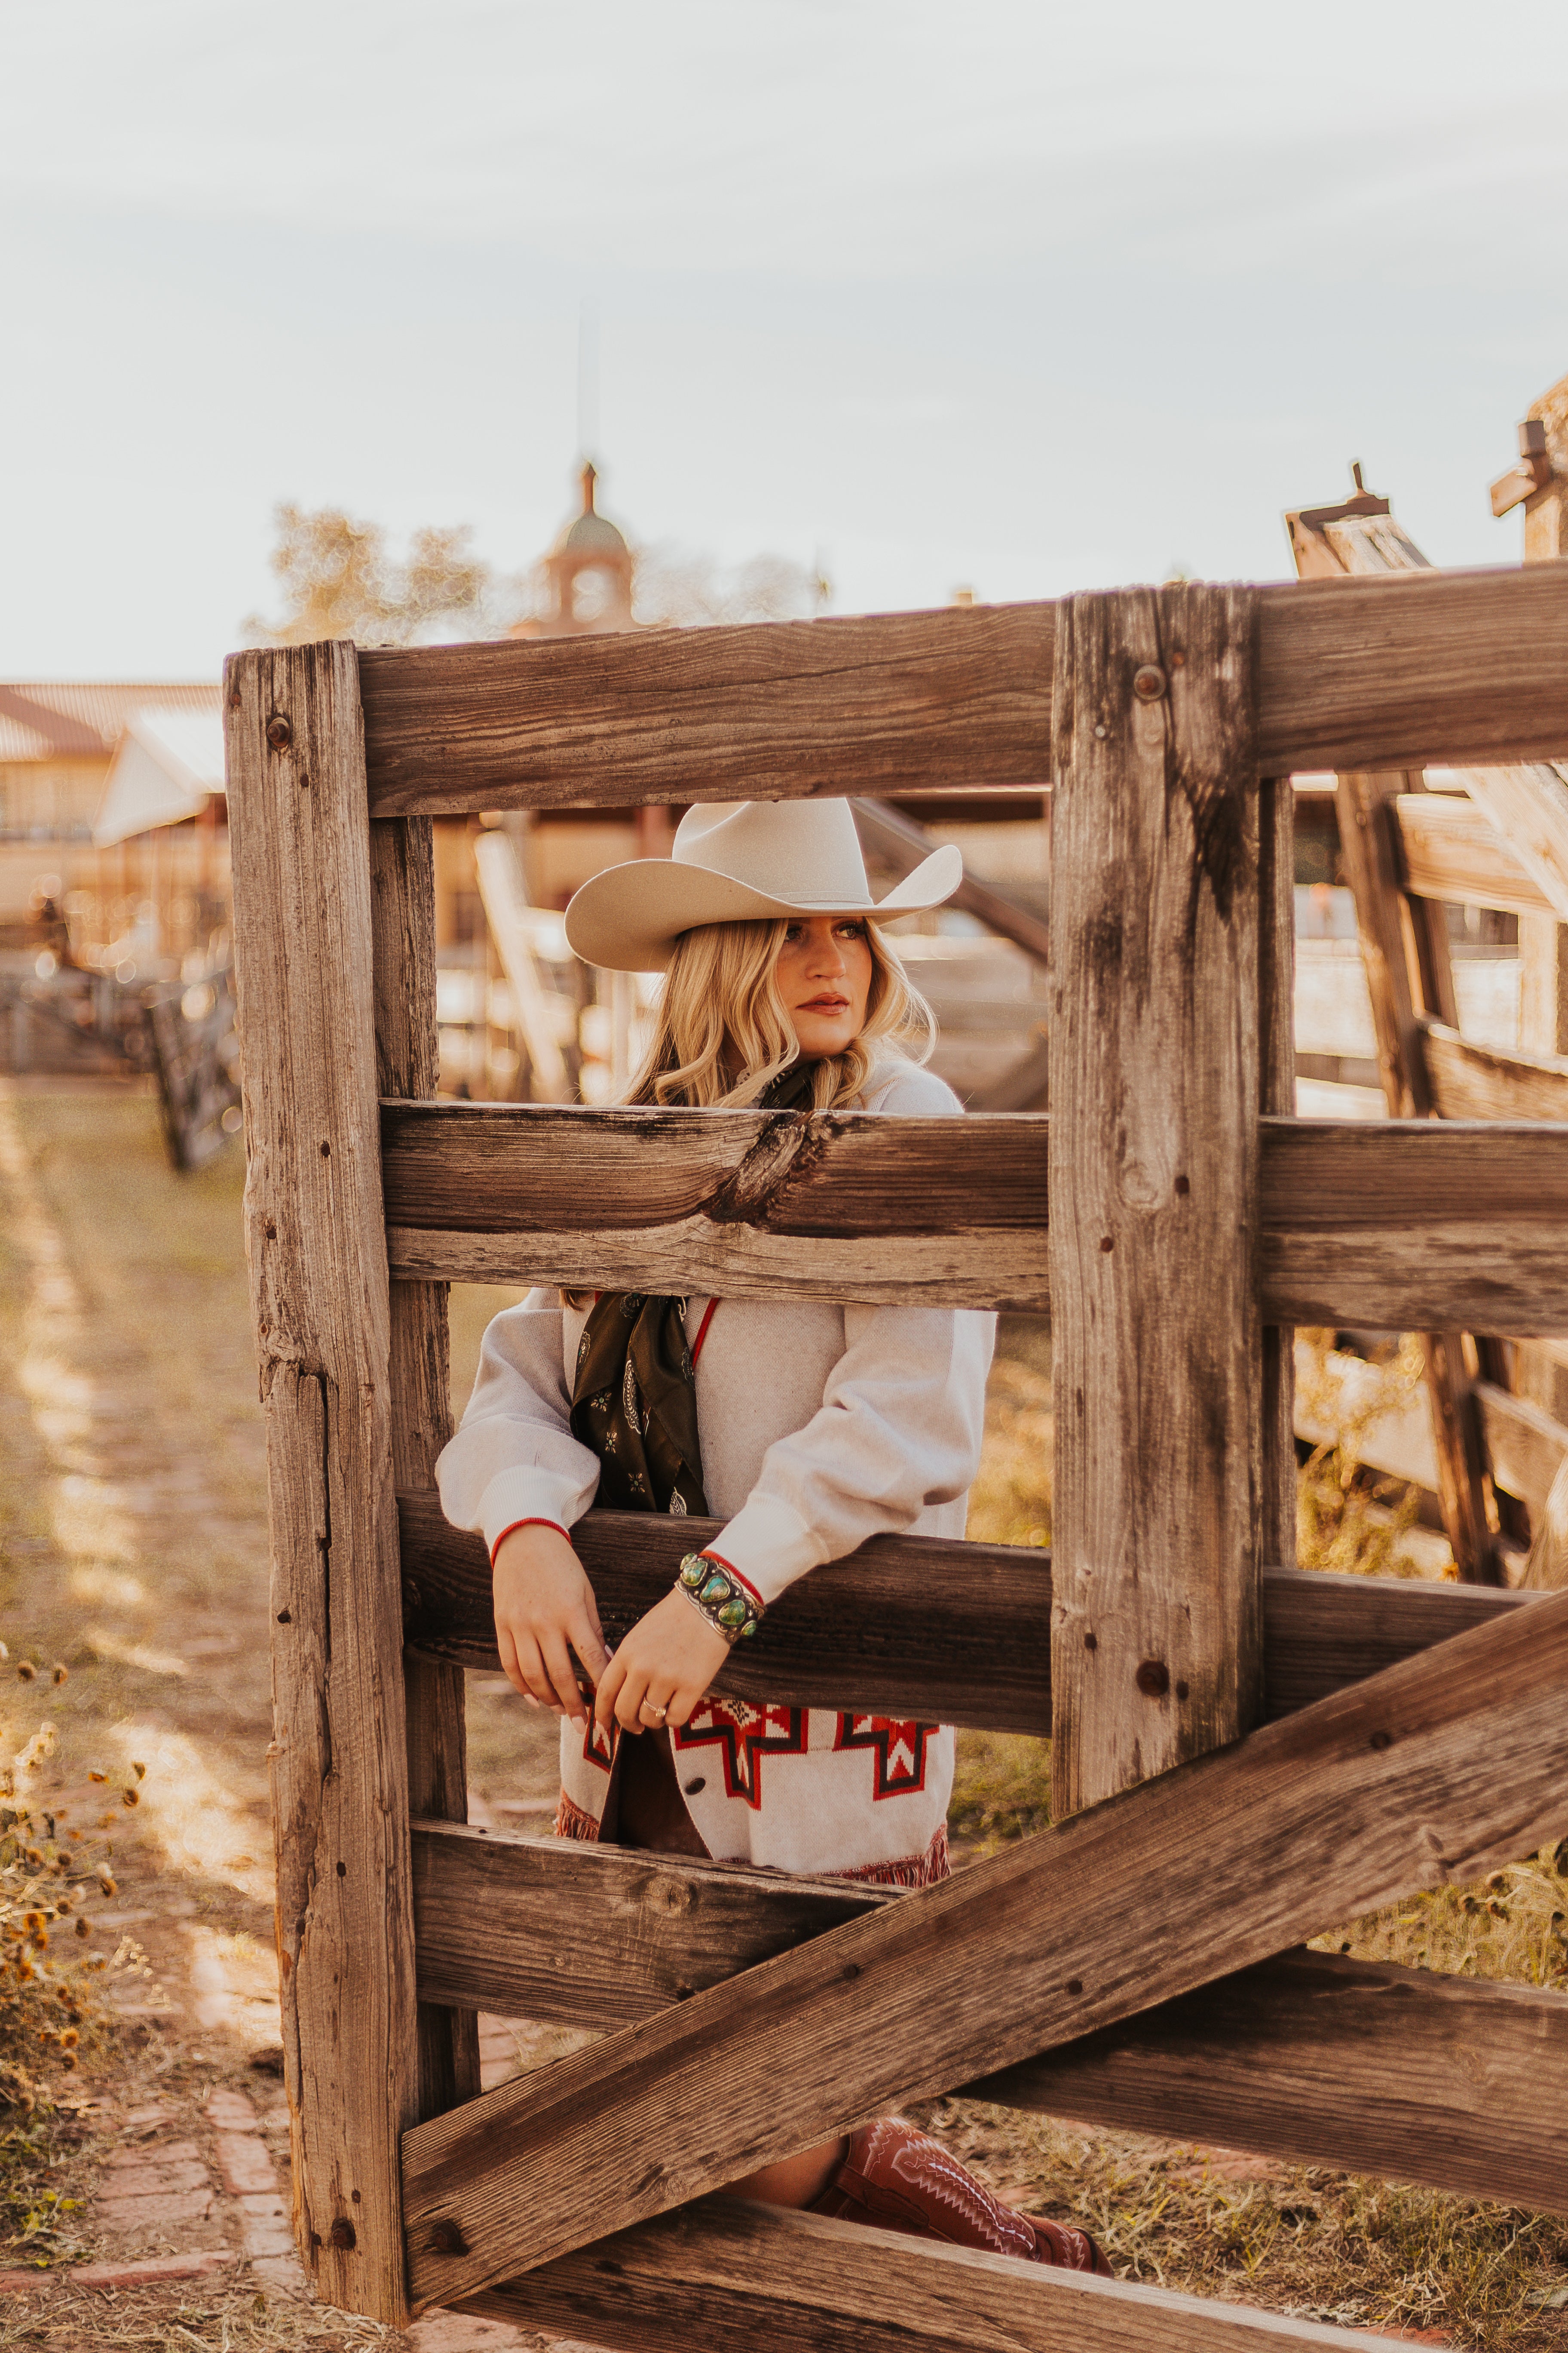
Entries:
[[1474, 0], [0, 0], [0, 675], [205, 675], [277, 499], [835, 609], [1436, 562], [1568, 372], [1568, 52]]

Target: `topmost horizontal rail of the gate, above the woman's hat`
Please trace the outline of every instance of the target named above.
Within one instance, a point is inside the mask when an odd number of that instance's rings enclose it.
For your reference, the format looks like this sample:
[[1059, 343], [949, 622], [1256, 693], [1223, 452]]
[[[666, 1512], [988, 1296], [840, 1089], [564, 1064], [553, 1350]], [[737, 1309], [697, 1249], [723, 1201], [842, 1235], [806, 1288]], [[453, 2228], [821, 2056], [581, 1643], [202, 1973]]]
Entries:
[[[1265, 774], [1568, 753], [1568, 567], [1258, 591]], [[360, 656], [376, 816], [1041, 784], [1053, 605]]]

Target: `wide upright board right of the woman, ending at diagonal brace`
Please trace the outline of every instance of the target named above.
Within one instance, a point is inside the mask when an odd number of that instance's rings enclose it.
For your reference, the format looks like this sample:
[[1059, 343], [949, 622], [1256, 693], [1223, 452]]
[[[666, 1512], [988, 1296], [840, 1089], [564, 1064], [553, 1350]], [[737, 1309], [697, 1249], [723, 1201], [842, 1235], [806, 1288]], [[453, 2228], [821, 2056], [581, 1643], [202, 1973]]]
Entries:
[[1058, 607], [1058, 1819], [1260, 1713], [1255, 609]]

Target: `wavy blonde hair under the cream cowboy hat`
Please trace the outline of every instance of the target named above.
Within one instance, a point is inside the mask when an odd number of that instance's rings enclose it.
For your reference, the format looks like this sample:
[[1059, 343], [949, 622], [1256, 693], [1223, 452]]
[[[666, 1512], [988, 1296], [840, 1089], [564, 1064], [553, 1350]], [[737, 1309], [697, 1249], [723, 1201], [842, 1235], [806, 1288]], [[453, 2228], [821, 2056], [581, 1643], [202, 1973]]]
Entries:
[[[813, 1111], [851, 1104], [882, 1059], [877, 1047], [903, 1061], [926, 1061], [936, 1045], [936, 1016], [903, 969], [898, 948], [870, 918], [853, 920], [865, 925], [872, 951], [865, 1024], [842, 1054], [818, 1061]], [[776, 979], [788, 929], [788, 918], [778, 915], [682, 932], [658, 993], [654, 1040], [621, 1101], [743, 1111], [799, 1061], [795, 1024]]]

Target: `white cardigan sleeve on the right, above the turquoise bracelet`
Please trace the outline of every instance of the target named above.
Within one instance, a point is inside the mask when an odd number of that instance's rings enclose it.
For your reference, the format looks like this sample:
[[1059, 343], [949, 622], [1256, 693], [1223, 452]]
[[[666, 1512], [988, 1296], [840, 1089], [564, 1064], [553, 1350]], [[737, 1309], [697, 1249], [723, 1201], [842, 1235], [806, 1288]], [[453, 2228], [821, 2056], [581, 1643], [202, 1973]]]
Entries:
[[[950, 1087], [910, 1068], [870, 1108], [957, 1113]], [[778, 1438], [750, 1497], [715, 1539], [764, 1602], [867, 1537], [966, 1494], [980, 1466], [997, 1318], [976, 1308], [844, 1308], [844, 1355], [811, 1421]]]

